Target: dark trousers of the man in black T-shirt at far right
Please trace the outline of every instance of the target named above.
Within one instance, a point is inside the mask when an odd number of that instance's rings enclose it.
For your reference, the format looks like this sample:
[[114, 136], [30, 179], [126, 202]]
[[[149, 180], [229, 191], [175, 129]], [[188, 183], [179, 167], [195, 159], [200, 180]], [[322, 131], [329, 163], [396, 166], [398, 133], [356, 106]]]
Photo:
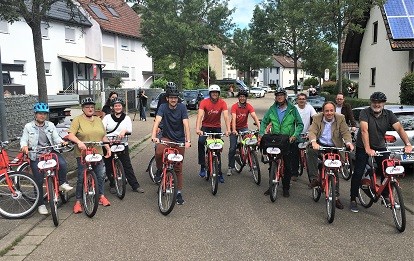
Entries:
[[[379, 149], [378, 151], [385, 151], [386, 149]], [[382, 161], [384, 159], [387, 159], [388, 156], [379, 156], [379, 157], [375, 157], [375, 162], [377, 162], [377, 169], [375, 171], [375, 173], [377, 174], [377, 177], [381, 177], [381, 181], [384, 179], [383, 175], [382, 175]], [[365, 149], [364, 148], [356, 148], [355, 151], [355, 168], [354, 168], [354, 173], [352, 174], [352, 179], [351, 179], [351, 200], [355, 200], [356, 197], [358, 197], [358, 190], [359, 190], [359, 186], [361, 185], [361, 179], [362, 176], [364, 175], [365, 172], [365, 167], [368, 163], [369, 160], [369, 156], [368, 154], [365, 153]], [[382, 195], [384, 197], [387, 197], [389, 194], [388, 189], [384, 189], [384, 191], [382, 192]]]

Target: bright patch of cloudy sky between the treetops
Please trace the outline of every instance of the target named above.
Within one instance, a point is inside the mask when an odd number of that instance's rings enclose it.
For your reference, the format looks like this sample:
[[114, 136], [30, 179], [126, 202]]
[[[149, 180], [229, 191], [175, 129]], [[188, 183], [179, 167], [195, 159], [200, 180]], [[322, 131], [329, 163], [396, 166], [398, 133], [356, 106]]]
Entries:
[[253, 17], [253, 10], [260, 0], [229, 0], [229, 8], [235, 8], [233, 23], [239, 28], [247, 28]]

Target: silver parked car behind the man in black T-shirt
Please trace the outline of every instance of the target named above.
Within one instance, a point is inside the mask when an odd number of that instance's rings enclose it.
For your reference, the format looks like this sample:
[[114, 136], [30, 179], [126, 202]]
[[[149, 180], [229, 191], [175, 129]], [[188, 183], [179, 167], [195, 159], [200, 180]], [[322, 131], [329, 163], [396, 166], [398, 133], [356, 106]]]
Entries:
[[[358, 107], [352, 109], [354, 113], [355, 121], [357, 122], [357, 126], [359, 125], [359, 114], [361, 110], [365, 107]], [[406, 131], [410, 142], [414, 143], [414, 106], [412, 105], [385, 105], [385, 109], [392, 111], [401, 122], [404, 130]], [[388, 149], [391, 151], [401, 151], [404, 148], [404, 142], [402, 141], [401, 137], [398, 133], [390, 126], [390, 129], [386, 132], [388, 135], [392, 135], [395, 137], [394, 142], [387, 143]], [[403, 164], [412, 164], [414, 163], [414, 155], [413, 154], [403, 154], [403, 155], [396, 155], [397, 159], [401, 161]]]

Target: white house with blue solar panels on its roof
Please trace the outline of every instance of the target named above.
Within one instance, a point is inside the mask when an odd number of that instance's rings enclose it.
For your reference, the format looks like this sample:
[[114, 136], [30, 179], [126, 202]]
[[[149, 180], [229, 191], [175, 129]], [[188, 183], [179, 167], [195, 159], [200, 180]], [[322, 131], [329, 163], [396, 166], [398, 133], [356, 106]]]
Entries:
[[364, 33], [347, 36], [342, 57], [344, 62], [359, 63], [359, 98], [368, 99], [373, 92], [381, 91], [389, 102], [398, 103], [401, 79], [414, 70], [414, 25], [408, 23], [400, 31], [393, 20], [409, 21], [410, 16], [404, 13], [409, 7], [394, 8], [401, 3], [404, 6], [401, 0], [388, 0], [384, 6], [372, 8], [361, 23]]

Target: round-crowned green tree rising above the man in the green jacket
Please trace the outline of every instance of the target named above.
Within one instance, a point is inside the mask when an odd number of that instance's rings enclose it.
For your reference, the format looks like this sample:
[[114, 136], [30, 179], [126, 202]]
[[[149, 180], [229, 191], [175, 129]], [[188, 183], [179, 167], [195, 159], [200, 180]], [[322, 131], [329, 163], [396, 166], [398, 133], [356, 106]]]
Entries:
[[256, 6], [251, 30], [256, 45], [264, 52], [293, 59], [297, 93], [298, 61], [319, 37], [319, 25], [312, 14], [313, 1], [269, 0]]

